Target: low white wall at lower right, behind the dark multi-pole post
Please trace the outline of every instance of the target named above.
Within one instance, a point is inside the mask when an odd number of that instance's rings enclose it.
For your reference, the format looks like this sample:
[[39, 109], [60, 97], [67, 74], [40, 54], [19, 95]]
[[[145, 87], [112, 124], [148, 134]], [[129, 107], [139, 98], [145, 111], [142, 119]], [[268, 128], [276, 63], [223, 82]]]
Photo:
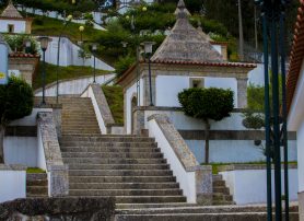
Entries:
[[[230, 188], [233, 200], [237, 205], [267, 202], [267, 176], [266, 170], [244, 170], [220, 172]], [[282, 171], [282, 193], [284, 190]], [[273, 171], [272, 171], [273, 181]], [[274, 189], [272, 183], [272, 190]], [[289, 170], [290, 200], [297, 200], [297, 170]], [[274, 194], [272, 194], [274, 197]]]

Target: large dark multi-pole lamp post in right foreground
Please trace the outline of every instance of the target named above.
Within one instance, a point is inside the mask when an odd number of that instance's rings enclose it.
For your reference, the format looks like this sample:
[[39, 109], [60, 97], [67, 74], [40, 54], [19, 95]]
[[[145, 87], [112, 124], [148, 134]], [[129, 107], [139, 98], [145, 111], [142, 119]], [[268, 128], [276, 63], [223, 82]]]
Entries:
[[[271, 201], [271, 159], [274, 163], [274, 200], [276, 221], [282, 220], [281, 203], [281, 147], [284, 148], [284, 195], [285, 220], [289, 220], [289, 174], [288, 174], [288, 130], [287, 130], [287, 89], [285, 89], [285, 51], [284, 51], [284, 20], [285, 8], [291, 0], [256, 0], [261, 8], [264, 59], [265, 59], [265, 131], [267, 155], [267, 220], [272, 220]], [[269, 34], [270, 33], [270, 34]], [[271, 53], [271, 72], [268, 71], [268, 48]], [[281, 57], [281, 85], [279, 82], [279, 59]], [[271, 80], [271, 82], [270, 82]], [[270, 100], [270, 84], [272, 85], [272, 98]], [[279, 91], [282, 91], [282, 111], [280, 112]], [[271, 108], [270, 108], [271, 107]]]

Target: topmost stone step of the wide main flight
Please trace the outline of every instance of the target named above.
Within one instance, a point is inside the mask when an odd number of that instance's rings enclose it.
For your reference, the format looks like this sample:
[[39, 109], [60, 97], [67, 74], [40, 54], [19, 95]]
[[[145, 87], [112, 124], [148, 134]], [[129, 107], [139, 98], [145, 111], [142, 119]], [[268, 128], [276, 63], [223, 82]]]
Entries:
[[60, 142], [154, 142], [154, 138], [147, 137], [77, 137], [77, 136], [65, 136], [60, 138]]

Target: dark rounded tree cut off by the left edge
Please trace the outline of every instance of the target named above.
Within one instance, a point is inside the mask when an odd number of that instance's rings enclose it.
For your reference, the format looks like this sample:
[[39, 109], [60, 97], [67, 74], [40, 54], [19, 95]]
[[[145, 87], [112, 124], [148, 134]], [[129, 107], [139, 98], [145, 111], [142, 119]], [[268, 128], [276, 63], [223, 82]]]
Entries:
[[24, 80], [12, 77], [8, 84], [0, 85], [0, 163], [4, 162], [3, 139], [5, 127], [10, 121], [30, 115], [33, 105], [33, 90]]

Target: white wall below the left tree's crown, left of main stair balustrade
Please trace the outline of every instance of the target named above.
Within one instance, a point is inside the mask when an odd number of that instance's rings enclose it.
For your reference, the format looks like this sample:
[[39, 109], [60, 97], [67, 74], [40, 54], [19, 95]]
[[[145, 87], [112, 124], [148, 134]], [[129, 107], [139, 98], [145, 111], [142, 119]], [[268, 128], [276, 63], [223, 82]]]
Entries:
[[28, 167], [37, 166], [36, 137], [4, 137], [5, 164], [22, 164]]

